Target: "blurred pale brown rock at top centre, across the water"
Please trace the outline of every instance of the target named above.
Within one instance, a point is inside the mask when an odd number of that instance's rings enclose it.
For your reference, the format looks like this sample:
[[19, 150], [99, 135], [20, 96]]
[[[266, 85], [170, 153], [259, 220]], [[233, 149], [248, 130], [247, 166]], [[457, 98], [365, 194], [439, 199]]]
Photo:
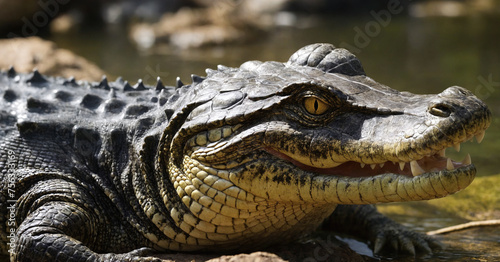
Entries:
[[137, 24], [130, 38], [142, 49], [169, 44], [182, 49], [242, 43], [273, 26], [272, 14], [247, 12], [245, 4], [220, 1], [207, 8], [183, 8], [165, 14], [158, 23]]

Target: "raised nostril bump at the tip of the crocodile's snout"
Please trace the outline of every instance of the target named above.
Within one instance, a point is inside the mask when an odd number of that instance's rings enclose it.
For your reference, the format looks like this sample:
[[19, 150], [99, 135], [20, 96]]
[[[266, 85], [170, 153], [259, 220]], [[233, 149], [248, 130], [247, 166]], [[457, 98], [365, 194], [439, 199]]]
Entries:
[[437, 99], [431, 101], [429, 113], [438, 117], [449, 117], [453, 113], [470, 106], [471, 102], [475, 104], [474, 106], [485, 107], [469, 90], [459, 86], [452, 86], [438, 94]]

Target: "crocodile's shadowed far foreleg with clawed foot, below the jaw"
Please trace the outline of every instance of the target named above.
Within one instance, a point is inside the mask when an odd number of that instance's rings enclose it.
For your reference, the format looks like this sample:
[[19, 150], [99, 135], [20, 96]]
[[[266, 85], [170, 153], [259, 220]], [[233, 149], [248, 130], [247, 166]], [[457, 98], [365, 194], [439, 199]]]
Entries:
[[393, 221], [373, 205], [339, 205], [324, 227], [366, 238], [376, 254], [391, 248], [411, 255], [431, 254], [432, 249], [442, 248], [439, 241]]

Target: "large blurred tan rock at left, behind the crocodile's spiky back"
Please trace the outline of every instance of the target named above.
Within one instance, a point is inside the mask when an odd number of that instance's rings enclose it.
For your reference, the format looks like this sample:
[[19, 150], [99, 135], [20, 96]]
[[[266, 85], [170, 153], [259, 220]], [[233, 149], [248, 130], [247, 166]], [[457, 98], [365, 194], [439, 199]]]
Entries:
[[39, 37], [0, 40], [0, 57], [1, 70], [14, 66], [17, 72], [28, 73], [36, 68], [46, 75], [90, 81], [100, 81], [105, 74], [95, 64]]

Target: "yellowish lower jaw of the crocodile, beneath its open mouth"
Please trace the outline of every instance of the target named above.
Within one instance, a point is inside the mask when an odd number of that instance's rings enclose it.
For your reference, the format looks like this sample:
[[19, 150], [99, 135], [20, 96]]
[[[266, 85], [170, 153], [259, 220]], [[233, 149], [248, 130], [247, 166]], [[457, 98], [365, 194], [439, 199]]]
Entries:
[[[370, 177], [313, 175], [310, 195], [317, 203], [378, 204], [430, 200], [463, 190], [474, 180], [474, 165], [426, 172], [416, 177], [383, 173]], [[308, 195], [302, 195], [306, 199]]]

